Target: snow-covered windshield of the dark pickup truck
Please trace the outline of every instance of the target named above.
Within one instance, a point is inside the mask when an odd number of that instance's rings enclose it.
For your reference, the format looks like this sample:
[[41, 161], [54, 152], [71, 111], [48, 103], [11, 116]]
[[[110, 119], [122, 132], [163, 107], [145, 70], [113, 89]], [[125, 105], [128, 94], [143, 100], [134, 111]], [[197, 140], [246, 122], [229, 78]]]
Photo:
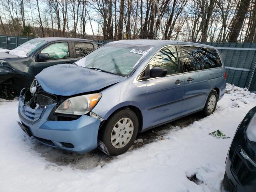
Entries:
[[17, 48], [10, 50], [9, 54], [12, 54], [18, 57], [26, 57], [26, 56], [29, 56], [29, 54], [31, 54], [32, 52], [38, 50], [40, 47], [42, 47], [46, 43], [47, 42], [43, 40], [32, 39], [27, 41], [24, 44], [21, 44]]

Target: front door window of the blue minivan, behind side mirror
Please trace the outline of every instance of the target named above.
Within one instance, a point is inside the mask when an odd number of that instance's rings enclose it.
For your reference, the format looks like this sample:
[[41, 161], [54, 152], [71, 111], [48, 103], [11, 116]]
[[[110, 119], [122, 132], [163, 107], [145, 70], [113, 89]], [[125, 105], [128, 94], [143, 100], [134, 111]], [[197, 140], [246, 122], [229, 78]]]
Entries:
[[166, 75], [177, 74], [180, 72], [178, 54], [176, 46], [162, 48], [149, 63], [150, 69], [153, 67], [162, 67], [167, 69]]

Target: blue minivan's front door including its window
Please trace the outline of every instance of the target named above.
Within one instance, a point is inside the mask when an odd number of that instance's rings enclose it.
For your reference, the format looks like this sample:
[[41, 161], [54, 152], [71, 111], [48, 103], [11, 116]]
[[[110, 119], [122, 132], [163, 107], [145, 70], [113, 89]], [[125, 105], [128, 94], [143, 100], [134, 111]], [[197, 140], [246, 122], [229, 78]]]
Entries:
[[149, 66], [165, 68], [167, 74], [165, 77], [146, 81], [148, 114], [146, 127], [178, 118], [184, 99], [184, 75], [180, 73], [176, 46], [167, 46], [159, 50]]

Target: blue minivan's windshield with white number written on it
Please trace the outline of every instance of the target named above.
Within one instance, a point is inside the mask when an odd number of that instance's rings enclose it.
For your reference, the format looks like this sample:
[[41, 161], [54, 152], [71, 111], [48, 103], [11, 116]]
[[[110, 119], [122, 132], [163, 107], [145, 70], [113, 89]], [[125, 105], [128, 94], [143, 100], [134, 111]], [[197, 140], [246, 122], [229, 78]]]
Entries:
[[129, 76], [152, 46], [134, 44], [106, 44], [84, 56], [78, 66]]

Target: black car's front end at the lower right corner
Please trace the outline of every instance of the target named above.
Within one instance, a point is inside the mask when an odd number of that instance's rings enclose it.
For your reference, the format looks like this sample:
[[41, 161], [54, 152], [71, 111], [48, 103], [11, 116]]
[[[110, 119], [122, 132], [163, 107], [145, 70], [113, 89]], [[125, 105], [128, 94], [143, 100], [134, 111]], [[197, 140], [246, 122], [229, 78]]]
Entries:
[[256, 143], [245, 133], [255, 112], [256, 107], [246, 114], [228, 152], [223, 185], [230, 192], [256, 192]]

